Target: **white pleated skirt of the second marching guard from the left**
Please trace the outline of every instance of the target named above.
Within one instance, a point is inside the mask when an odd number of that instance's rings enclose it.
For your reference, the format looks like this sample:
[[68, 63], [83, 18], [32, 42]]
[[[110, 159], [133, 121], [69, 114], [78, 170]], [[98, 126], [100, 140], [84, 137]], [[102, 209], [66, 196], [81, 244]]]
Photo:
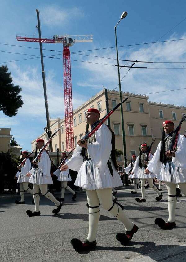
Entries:
[[37, 185], [53, 184], [51, 175], [43, 175], [38, 168], [34, 169], [33, 174], [30, 176], [29, 182]]

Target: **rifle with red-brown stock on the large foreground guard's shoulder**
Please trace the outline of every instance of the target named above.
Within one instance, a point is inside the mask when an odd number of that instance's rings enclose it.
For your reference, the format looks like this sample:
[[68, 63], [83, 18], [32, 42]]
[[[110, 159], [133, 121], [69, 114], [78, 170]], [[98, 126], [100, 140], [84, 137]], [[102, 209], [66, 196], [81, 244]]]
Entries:
[[[131, 94], [132, 95], [132, 94]], [[83, 136], [81, 143], [84, 144], [85, 141], [83, 141], [83, 139], [87, 140], [89, 137], [91, 137], [91, 135], [93, 135], [98, 128], [103, 125], [103, 123], [107, 120], [107, 118], [109, 118], [110, 115], [112, 115], [112, 113], [114, 113], [114, 111], [121, 105], [123, 104], [131, 95], [129, 95], [127, 98], [123, 99], [122, 102], [120, 102], [119, 104], [117, 104], [112, 110], [110, 110], [103, 118], [101, 118], [99, 120], [99, 122], [97, 122], [97, 124], [95, 124], [95, 126], [91, 129], [91, 131], [89, 131], [85, 136]]]

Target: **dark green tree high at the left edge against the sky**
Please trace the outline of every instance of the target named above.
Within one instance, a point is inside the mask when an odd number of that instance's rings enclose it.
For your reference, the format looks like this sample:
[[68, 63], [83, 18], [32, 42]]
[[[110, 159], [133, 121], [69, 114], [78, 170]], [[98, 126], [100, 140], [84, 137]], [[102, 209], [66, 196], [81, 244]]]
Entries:
[[15, 116], [18, 108], [24, 104], [22, 96], [19, 95], [21, 91], [22, 88], [13, 85], [7, 65], [0, 66], [0, 110], [6, 116]]

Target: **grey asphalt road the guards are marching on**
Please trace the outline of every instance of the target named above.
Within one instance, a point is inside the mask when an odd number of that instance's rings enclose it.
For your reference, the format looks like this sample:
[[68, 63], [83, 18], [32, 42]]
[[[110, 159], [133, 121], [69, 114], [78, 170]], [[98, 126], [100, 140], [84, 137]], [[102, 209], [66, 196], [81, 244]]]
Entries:
[[[16, 198], [0, 199], [0, 261], [1, 262], [184, 262], [186, 261], [186, 198], [178, 198], [176, 229], [162, 230], [154, 224], [157, 217], [168, 218], [167, 190], [162, 187], [162, 201], [156, 193], [146, 189], [146, 202], [137, 203], [130, 189], [119, 190], [117, 201], [124, 205], [124, 212], [138, 225], [127, 246], [122, 246], [115, 235], [124, 231], [123, 225], [108, 211], [100, 207], [97, 229], [97, 248], [76, 252], [72, 238], [84, 240], [88, 234], [88, 208], [86, 194], [78, 191], [75, 201], [65, 194], [59, 214], [53, 215], [53, 202], [40, 197], [41, 216], [28, 217], [26, 210], [34, 211], [32, 197], [27, 194], [24, 205], [15, 205]], [[60, 195], [55, 195], [59, 196]]]

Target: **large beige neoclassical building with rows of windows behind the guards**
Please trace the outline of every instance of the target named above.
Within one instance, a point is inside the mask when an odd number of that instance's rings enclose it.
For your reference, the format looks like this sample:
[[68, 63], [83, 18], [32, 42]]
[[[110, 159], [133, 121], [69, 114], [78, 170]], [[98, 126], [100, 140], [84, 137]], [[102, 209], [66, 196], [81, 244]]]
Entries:
[[[126, 140], [126, 157], [127, 162], [130, 162], [133, 154], [136, 156], [139, 154], [139, 144], [146, 142], [147, 145], [150, 145], [152, 140], [156, 137], [156, 141], [151, 150], [151, 152], [154, 153], [161, 140], [163, 121], [171, 120], [176, 127], [182, 117], [186, 114], [186, 107], [149, 102], [148, 96], [123, 92], [122, 99], [126, 97], [129, 98], [123, 103], [123, 118]], [[120, 96], [118, 91], [103, 89], [77, 109], [73, 110], [74, 145], [76, 146], [77, 141], [85, 135], [85, 116], [88, 108], [94, 107], [98, 109], [100, 111], [100, 118], [102, 118], [119, 102]], [[121, 108], [118, 107], [110, 116], [109, 121], [106, 120], [105, 123], [108, 124], [115, 133], [116, 148], [123, 151], [120, 110]], [[52, 133], [60, 128], [52, 139], [53, 151], [59, 149], [59, 151], [66, 152], [65, 118], [51, 119], [50, 126]], [[182, 123], [180, 134], [186, 134], [186, 121]], [[38, 138], [43, 138], [47, 141], [46, 133], [44, 132], [32, 141], [32, 150], [35, 148], [36, 140]], [[124, 157], [120, 156], [117, 159], [117, 162], [122, 167]]]

